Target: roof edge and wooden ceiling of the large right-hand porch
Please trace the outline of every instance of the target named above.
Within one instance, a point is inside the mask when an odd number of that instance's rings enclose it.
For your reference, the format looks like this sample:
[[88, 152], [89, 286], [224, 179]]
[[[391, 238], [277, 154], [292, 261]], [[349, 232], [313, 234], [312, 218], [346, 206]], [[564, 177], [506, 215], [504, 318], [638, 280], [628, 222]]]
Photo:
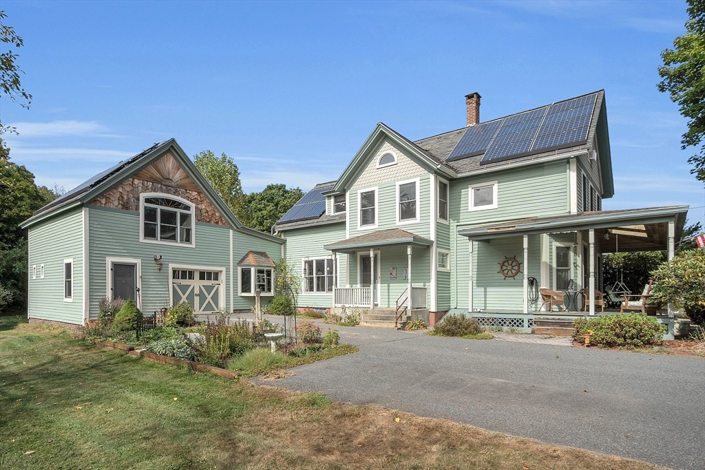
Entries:
[[[516, 237], [540, 233], [595, 230], [602, 252], [650, 251], [668, 248], [668, 222], [675, 221], [675, 240], [680, 239], [688, 206], [590, 211], [568, 216], [522, 218], [459, 230], [471, 240]], [[606, 233], [609, 233], [606, 238]]]

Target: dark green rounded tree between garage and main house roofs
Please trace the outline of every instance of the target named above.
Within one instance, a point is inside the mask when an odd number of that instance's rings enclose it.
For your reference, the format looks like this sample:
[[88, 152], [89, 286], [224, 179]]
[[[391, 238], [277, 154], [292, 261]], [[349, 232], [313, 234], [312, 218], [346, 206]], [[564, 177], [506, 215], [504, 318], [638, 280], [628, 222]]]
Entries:
[[247, 199], [250, 212], [250, 228], [269, 233], [272, 225], [291, 206], [304, 196], [300, 188], [286, 189], [286, 185], [267, 185], [262, 192], [253, 192]]

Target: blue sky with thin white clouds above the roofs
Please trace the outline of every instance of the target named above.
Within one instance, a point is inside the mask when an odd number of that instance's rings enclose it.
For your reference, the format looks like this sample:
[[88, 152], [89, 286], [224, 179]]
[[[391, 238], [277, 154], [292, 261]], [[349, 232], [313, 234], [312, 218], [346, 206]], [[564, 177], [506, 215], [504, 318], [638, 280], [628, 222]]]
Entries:
[[685, 1], [61, 2], [4, 0], [34, 95], [6, 98], [13, 161], [71, 189], [176, 137], [225, 152], [246, 191], [335, 180], [378, 122], [412, 140], [606, 90], [615, 192], [604, 209], [705, 190], [685, 119], [656, 89]]

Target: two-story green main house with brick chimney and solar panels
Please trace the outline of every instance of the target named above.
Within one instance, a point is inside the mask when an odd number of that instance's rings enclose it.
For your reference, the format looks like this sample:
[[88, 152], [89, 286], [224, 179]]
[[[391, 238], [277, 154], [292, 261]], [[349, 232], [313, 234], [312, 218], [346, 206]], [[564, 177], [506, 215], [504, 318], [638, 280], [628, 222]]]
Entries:
[[431, 325], [465, 312], [526, 330], [537, 287], [601, 290], [602, 254], [673, 256], [687, 206], [602, 210], [614, 193], [603, 90], [486, 122], [479, 94], [465, 104], [464, 127], [414, 142], [379, 123], [338, 180], [276, 223], [302, 276], [298, 307]]

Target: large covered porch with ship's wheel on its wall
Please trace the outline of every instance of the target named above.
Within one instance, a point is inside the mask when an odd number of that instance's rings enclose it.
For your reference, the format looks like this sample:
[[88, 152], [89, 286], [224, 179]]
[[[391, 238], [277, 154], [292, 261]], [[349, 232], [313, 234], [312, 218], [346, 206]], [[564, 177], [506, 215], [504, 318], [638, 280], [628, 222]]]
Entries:
[[[596, 292], [603, 291], [601, 255], [665, 250], [668, 259], [673, 258], [687, 209], [687, 206], [667, 206], [589, 211], [462, 228], [458, 234], [467, 237], [470, 250], [467, 311], [472, 316], [481, 313], [488, 316], [489, 312], [521, 316], [594, 316], [601, 313], [601, 299], [596, 296]], [[477, 289], [476, 283], [487, 277], [489, 269], [496, 271], [497, 264], [489, 266], [488, 256], [479, 256], [479, 252], [494, 253], [494, 257], [497, 257], [495, 248], [503, 244], [522, 249], [521, 256], [515, 256], [515, 261], [521, 266], [520, 276], [516, 276], [520, 278], [521, 284], [517, 280], [515, 290], [506, 290], [504, 297], [494, 302], [491, 308], [482, 308], [486, 306], [486, 299], [484, 304], [482, 299], [477, 299], [482, 295], [482, 290]], [[496, 261], [500, 262], [501, 259]], [[539, 311], [541, 297], [538, 304], [532, 303], [536, 297], [532, 293], [535, 294], [537, 287], [557, 291], [559, 295], [572, 295], [575, 299], [580, 295], [584, 299], [585, 308], [556, 312], [551, 311], [552, 306], [549, 306], [548, 311]], [[478, 304], [480, 308], [477, 308]], [[522, 308], [517, 309], [519, 306]], [[668, 317], [673, 318], [673, 305], [664, 307]], [[525, 325], [528, 326], [527, 323]]]

